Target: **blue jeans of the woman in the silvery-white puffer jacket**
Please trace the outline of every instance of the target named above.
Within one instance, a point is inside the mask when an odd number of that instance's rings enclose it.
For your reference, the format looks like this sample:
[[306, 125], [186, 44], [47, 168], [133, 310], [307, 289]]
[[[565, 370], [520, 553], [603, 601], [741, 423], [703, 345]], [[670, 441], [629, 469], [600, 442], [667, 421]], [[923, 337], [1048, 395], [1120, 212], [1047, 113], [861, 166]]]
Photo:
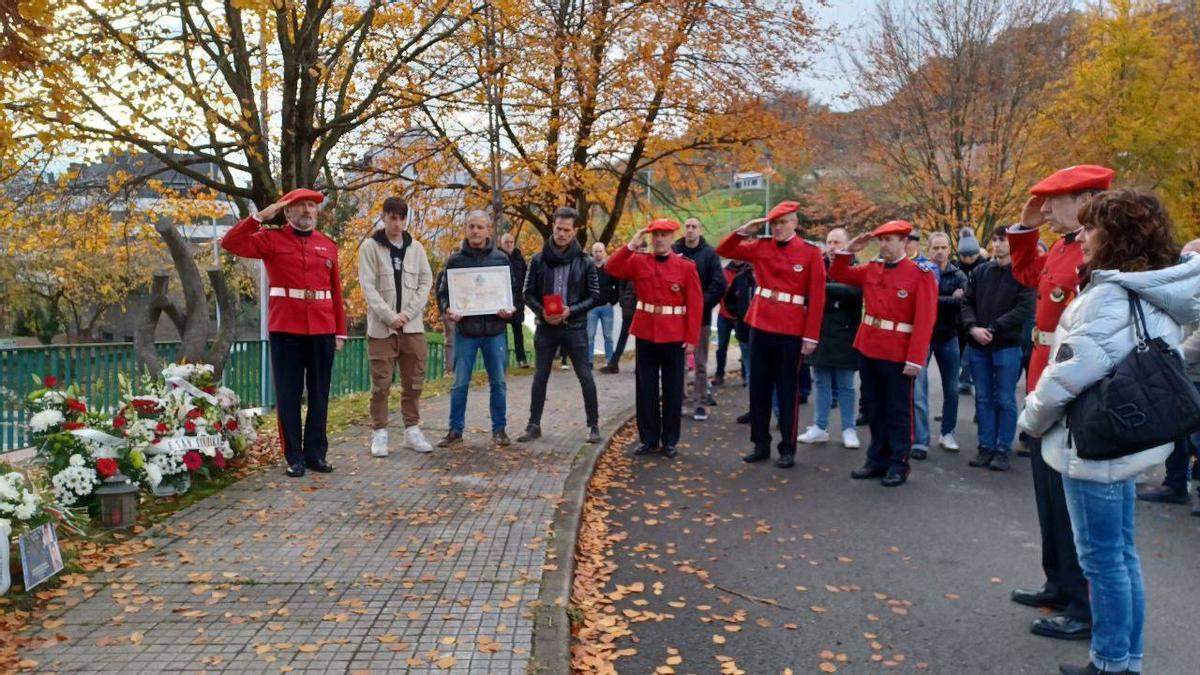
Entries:
[[1106, 673], [1140, 673], [1146, 595], [1134, 544], [1134, 480], [1094, 483], [1063, 476], [1062, 484], [1092, 601], [1092, 663]]

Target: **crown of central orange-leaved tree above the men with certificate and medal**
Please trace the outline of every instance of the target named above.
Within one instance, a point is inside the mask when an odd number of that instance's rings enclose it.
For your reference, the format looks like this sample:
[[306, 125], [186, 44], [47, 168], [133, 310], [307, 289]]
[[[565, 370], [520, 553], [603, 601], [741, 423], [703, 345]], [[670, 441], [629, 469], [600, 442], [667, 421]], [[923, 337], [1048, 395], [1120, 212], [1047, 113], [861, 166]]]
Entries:
[[[800, 129], [770, 103], [806, 67], [815, 35], [799, 2], [756, 0], [505, 0], [456, 36], [455, 71], [482, 89], [431, 100], [422, 125], [492, 201], [488, 107], [498, 119], [504, 215], [547, 237], [571, 205], [610, 241], [647, 172], [679, 191], [712, 150], [757, 166], [796, 151]], [[492, 49], [488, 47], [492, 46]], [[492, 86], [492, 89], [488, 89]], [[695, 169], [695, 173], [692, 173]]]

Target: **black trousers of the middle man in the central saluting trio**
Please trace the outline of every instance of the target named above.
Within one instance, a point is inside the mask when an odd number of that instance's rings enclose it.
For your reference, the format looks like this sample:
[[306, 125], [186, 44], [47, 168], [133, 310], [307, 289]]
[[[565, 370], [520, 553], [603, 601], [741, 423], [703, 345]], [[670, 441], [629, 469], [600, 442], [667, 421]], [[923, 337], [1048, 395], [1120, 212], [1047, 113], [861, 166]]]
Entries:
[[770, 453], [772, 394], [779, 396], [780, 456], [796, 455], [799, 432], [800, 347], [797, 335], [750, 330], [750, 442], [755, 450]]

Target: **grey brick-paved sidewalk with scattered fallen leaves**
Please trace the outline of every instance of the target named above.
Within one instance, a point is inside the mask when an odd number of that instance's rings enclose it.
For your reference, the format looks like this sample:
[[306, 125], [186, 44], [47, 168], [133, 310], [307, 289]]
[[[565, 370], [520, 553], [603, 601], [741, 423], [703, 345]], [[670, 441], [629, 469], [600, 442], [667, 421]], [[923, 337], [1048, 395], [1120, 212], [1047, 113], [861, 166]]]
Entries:
[[[628, 413], [632, 374], [596, 380], [601, 422]], [[514, 438], [530, 382], [509, 381]], [[433, 442], [448, 407], [422, 401]], [[155, 548], [131, 567], [72, 589], [82, 602], [44, 631], [70, 640], [26, 656], [59, 671], [526, 673], [582, 407], [574, 375], [556, 370], [536, 443], [491, 448], [478, 389], [456, 450], [396, 449], [394, 429], [391, 455], [376, 459], [370, 430], [350, 429], [334, 438], [332, 474], [272, 467], [148, 531]]]

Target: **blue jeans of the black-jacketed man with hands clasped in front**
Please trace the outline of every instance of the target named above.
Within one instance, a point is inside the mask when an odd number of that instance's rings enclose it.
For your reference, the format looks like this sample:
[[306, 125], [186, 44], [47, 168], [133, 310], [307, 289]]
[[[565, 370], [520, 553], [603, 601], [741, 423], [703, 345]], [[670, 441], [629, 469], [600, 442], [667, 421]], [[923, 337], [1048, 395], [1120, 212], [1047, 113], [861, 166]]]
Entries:
[[1016, 381], [1021, 377], [1021, 348], [967, 347], [967, 363], [976, 381], [979, 449], [1008, 454], [1016, 434]]

